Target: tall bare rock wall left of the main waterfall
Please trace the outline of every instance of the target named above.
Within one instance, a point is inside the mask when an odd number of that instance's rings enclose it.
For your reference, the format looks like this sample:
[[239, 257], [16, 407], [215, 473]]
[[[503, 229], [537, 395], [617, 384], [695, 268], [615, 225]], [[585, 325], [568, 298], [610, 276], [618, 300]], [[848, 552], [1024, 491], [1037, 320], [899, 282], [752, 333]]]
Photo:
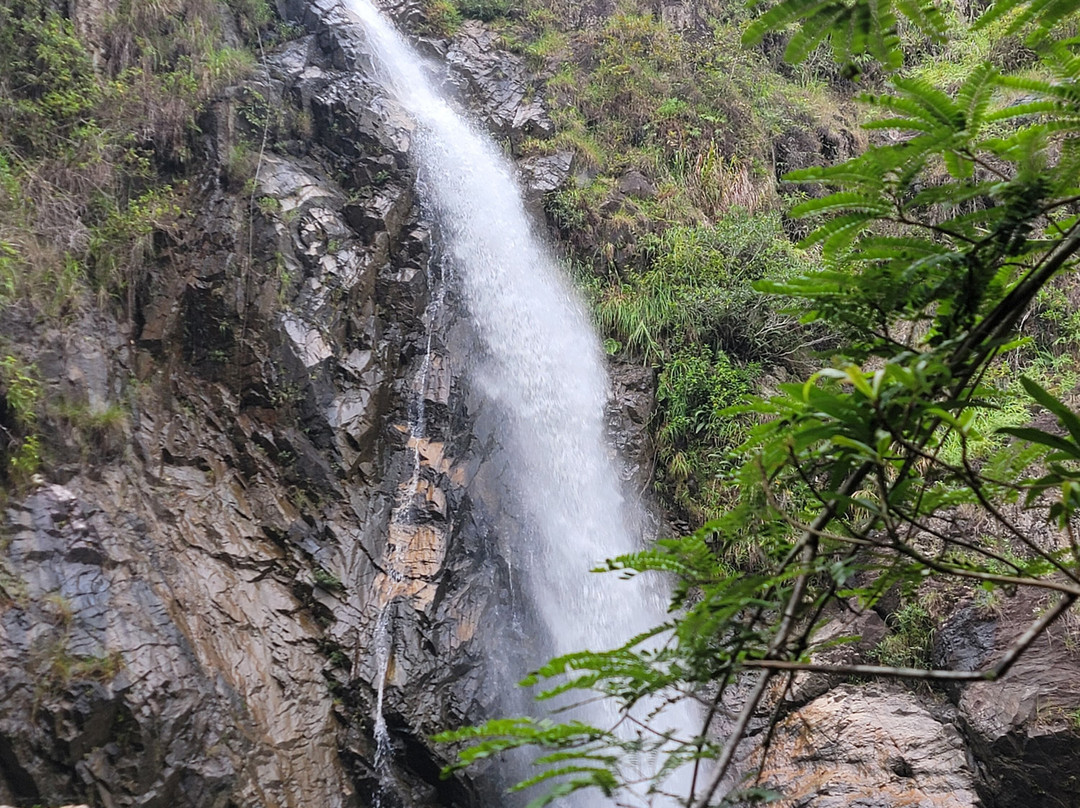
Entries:
[[[383, 804], [469, 804], [424, 739], [490, 713], [522, 670], [495, 670], [480, 636], [515, 629], [468, 333], [435, 337], [416, 389], [438, 279], [410, 123], [339, 6], [286, 12], [309, 33], [200, 121], [195, 213], [134, 332], [9, 314], [46, 395], [130, 415], [9, 503], [0, 803], [370, 804], [391, 609]], [[93, 30], [97, 10], [77, 13]]]

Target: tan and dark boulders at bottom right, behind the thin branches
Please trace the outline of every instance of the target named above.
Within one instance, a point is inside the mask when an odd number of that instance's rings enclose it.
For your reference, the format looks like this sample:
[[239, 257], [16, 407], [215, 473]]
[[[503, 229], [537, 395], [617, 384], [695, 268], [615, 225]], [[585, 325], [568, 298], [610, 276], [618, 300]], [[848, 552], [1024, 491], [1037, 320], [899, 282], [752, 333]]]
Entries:
[[[997, 609], [961, 604], [937, 629], [933, 664], [982, 670], [1029, 625], [1044, 597], [1014, 595]], [[846, 614], [816, 633], [814, 662], [876, 662], [889, 631], [874, 611]], [[777, 686], [779, 706], [760, 783], [782, 806], [1080, 805], [1076, 751], [1076, 628], [1055, 624], [998, 682], [927, 685], [852, 684], [839, 674], [800, 673]], [[835, 644], [847, 638], [848, 642]], [[778, 703], [779, 702], [779, 703]], [[742, 771], [761, 764], [769, 718], [740, 748]], [[723, 727], [720, 727], [723, 733]]]

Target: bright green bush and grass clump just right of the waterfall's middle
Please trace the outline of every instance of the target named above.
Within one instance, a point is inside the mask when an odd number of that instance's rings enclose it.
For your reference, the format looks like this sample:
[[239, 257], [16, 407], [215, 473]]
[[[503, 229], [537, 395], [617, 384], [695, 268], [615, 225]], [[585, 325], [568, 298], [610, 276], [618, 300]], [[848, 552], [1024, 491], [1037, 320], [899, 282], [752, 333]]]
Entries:
[[721, 507], [726, 449], [744, 439], [743, 422], [720, 412], [742, 403], [762, 365], [786, 361], [813, 338], [754, 283], [811, 265], [783, 235], [779, 216], [738, 207], [643, 245], [648, 268], [594, 286], [594, 310], [612, 352], [659, 368], [658, 490], [698, 526]]

